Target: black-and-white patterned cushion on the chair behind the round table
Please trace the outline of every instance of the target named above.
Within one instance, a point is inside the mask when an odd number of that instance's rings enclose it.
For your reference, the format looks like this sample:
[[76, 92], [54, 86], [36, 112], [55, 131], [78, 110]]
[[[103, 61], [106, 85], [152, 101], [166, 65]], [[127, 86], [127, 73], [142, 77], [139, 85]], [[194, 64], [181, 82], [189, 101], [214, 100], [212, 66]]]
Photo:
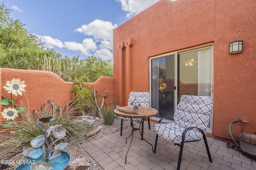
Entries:
[[[133, 106], [131, 103], [138, 100], [142, 107], [150, 107], [150, 93], [149, 92], [130, 92], [128, 99], [128, 106]], [[122, 120], [131, 121], [130, 118], [122, 117]], [[132, 119], [135, 122], [141, 122], [142, 118]]]

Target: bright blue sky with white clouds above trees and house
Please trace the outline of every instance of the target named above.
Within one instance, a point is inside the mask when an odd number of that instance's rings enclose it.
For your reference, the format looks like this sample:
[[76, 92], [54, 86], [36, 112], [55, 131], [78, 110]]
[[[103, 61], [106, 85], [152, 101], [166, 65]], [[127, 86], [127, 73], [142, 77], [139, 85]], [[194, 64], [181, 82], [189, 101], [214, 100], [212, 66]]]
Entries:
[[64, 57], [113, 58], [112, 30], [158, 0], [6, 0], [11, 17], [26, 24]]

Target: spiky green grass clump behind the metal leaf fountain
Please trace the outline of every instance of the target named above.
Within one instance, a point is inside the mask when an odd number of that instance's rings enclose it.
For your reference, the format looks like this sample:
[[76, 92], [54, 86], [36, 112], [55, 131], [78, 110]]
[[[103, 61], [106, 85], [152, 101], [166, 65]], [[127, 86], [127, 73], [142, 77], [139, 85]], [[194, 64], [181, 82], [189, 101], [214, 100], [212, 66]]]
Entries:
[[[55, 105], [55, 104], [54, 104]], [[88, 122], [78, 122], [75, 117], [70, 117], [74, 112], [75, 107], [69, 106], [63, 113], [60, 109], [54, 108], [52, 100], [47, 102], [42, 110], [36, 111], [36, 117], [54, 117], [55, 121], [50, 123], [50, 126], [61, 124], [66, 128], [67, 138], [65, 140], [72, 140], [73, 137], [80, 137], [86, 139], [85, 134], [92, 130]], [[7, 135], [6, 140], [0, 143], [0, 159], [7, 160], [11, 156], [22, 153], [25, 146], [30, 145], [30, 141], [38, 135], [44, 134], [42, 129], [34, 122], [32, 113], [25, 110], [17, 121], [2, 120], [3, 123], [10, 123], [8, 128], [1, 128], [0, 133]], [[14, 133], [14, 134], [13, 134]], [[3, 151], [4, 150], [4, 151]]]

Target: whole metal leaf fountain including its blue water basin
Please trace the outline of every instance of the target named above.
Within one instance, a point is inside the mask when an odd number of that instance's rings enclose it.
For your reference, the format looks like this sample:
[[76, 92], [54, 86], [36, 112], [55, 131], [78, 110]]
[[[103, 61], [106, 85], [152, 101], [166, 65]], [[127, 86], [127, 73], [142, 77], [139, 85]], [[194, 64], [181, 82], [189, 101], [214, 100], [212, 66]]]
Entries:
[[[71, 158], [70, 154], [67, 151], [62, 151], [62, 149], [68, 143], [59, 143], [55, 146], [54, 144], [66, 136], [66, 129], [62, 125], [48, 127], [48, 123], [54, 121], [54, 117], [42, 117], [38, 120], [35, 109], [33, 110], [33, 118], [44, 134], [32, 139], [30, 147], [23, 148], [23, 155], [29, 160], [20, 164], [15, 170], [65, 170]], [[40, 122], [44, 123], [45, 126]]]

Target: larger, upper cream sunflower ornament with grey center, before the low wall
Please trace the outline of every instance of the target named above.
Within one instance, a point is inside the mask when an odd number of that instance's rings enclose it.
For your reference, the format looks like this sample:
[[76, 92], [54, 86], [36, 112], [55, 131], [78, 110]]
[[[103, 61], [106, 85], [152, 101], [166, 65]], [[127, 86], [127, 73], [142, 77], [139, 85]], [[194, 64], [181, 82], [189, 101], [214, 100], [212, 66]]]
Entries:
[[5, 88], [8, 93], [14, 94], [15, 96], [22, 95], [22, 92], [26, 92], [24, 88], [26, 87], [26, 84], [24, 84], [24, 81], [20, 81], [20, 78], [12, 79], [11, 81], [6, 82]]

